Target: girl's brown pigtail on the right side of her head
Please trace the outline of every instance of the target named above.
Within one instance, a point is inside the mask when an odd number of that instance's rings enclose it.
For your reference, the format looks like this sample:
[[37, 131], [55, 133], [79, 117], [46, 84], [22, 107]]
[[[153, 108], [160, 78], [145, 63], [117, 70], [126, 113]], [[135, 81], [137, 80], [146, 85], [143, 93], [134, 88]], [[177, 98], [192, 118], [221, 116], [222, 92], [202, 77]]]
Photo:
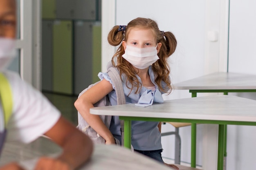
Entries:
[[165, 38], [165, 46], [166, 46], [166, 54], [168, 56], [172, 55], [176, 49], [177, 46], [177, 40], [173, 33], [171, 32], [164, 32], [164, 38]]

